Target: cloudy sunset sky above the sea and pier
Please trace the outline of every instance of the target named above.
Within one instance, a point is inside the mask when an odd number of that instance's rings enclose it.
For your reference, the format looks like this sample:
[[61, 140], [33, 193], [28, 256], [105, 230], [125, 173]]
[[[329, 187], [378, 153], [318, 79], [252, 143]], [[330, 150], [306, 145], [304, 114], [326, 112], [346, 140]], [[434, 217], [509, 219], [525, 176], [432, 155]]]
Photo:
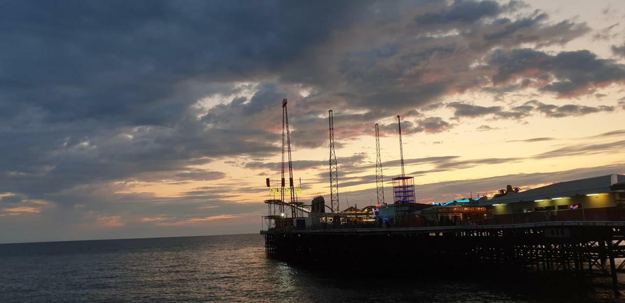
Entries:
[[[623, 1], [0, 1], [0, 243], [258, 233], [281, 167], [341, 209], [625, 173]], [[386, 183], [386, 186], [389, 184]], [[391, 191], [386, 190], [386, 200]]]

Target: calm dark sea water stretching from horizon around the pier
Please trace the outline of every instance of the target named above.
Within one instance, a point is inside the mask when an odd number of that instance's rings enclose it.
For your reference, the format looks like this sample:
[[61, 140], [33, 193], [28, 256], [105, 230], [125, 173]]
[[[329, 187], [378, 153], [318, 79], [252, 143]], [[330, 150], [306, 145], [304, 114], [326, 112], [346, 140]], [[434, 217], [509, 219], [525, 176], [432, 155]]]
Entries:
[[621, 301], [605, 278], [579, 287], [557, 279], [519, 284], [505, 274], [400, 279], [392, 267], [383, 276], [350, 274], [379, 264], [341, 260], [340, 272], [287, 264], [265, 256], [258, 234], [0, 244], [0, 302]]

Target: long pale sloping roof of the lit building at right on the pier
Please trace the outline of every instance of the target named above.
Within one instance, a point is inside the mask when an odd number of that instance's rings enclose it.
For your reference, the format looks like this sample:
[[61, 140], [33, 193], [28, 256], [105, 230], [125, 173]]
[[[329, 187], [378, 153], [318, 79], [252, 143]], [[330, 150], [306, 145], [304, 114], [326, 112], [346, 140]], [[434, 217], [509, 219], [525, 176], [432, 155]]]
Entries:
[[535, 201], [575, 195], [587, 195], [591, 193], [610, 193], [610, 186], [625, 181], [625, 175], [605, 175], [592, 178], [564, 181], [552, 185], [534, 188], [533, 190], [509, 193], [506, 196], [492, 198], [479, 203], [481, 206], [514, 203], [522, 201]]

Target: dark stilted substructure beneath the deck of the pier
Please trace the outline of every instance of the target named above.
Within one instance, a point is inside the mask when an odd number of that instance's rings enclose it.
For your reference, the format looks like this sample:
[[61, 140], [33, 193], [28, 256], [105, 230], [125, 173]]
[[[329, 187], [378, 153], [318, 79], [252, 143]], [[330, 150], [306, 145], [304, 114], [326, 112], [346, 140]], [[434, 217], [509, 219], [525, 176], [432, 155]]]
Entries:
[[439, 261], [462, 268], [610, 276], [625, 266], [625, 222], [559, 221], [484, 226], [261, 231], [266, 252], [290, 261], [388, 259], [425, 269]]

